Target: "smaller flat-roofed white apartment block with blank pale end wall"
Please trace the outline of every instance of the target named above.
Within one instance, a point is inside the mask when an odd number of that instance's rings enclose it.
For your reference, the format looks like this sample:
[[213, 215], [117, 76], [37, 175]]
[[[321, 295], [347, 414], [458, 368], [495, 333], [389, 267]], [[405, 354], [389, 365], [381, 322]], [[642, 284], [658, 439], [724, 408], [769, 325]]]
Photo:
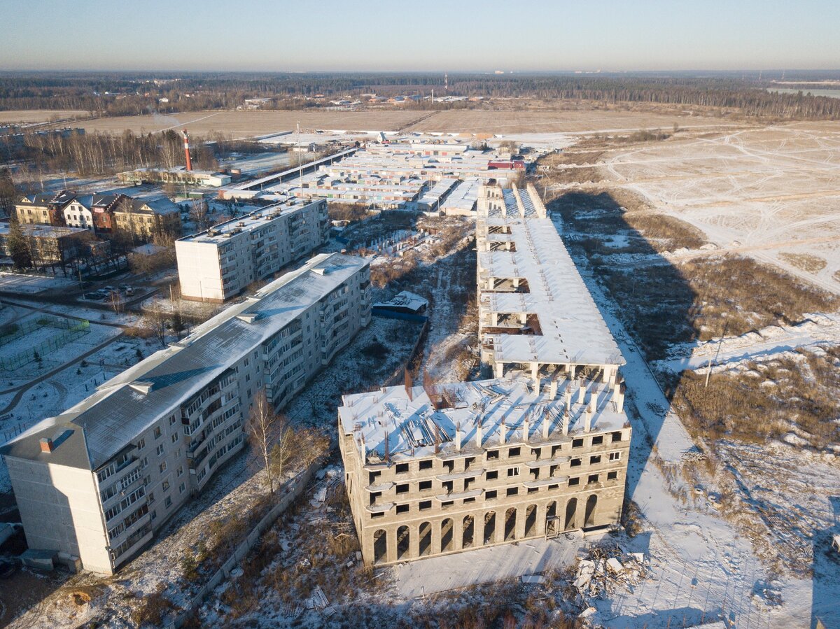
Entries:
[[181, 296], [225, 301], [327, 242], [327, 202], [284, 202], [175, 243]]

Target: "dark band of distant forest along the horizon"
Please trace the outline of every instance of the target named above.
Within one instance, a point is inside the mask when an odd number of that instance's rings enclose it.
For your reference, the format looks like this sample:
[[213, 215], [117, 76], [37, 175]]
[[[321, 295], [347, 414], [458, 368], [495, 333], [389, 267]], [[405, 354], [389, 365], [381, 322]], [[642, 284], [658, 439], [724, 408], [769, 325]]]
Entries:
[[[434, 89], [440, 96], [664, 103], [738, 109], [748, 116], [840, 118], [840, 99], [809, 96], [806, 92], [770, 93], [766, 91], [772, 85], [768, 81], [731, 75], [452, 74], [446, 92], [442, 74], [423, 73], [186, 74], [162, 79], [166, 82], [117, 74], [0, 75], [0, 110], [80, 109], [93, 115], [120, 116], [230, 109], [249, 97], [274, 98], [271, 107], [276, 108], [318, 107], [321, 103], [307, 99], [316, 95], [354, 97], [365, 92], [428, 94]], [[160, 102], [161, 98], [168, 102]]]

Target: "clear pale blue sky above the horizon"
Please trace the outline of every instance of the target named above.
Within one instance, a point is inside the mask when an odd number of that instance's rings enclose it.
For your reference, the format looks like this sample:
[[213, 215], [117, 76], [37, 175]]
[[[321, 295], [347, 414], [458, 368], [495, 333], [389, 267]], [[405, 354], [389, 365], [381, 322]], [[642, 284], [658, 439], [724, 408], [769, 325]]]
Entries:
[[0, 0], [0, 69], [834, 69], [838, 27], [840, 0]]

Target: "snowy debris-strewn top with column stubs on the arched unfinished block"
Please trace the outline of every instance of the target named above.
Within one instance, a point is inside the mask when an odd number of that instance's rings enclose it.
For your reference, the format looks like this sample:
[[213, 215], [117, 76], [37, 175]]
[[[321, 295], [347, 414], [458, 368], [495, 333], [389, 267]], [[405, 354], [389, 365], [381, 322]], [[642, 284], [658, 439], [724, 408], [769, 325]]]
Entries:
[[[581, 382], [586, 387], [582, 401]], [[617, 387], [592, 380], [566, 379], [556, 383], [555, 396], [544, 386], [535, 392], [533, 380], [523, 375], [437, 385], [438, 394], [449, 403], [449, 408], [438, 410], [422, 386], [412, 387], [411, 395], [405, 386], [391, 386], [344, 396], [339, 423], [344, 434], [354, 435], [360, 452], [365, 448], [365, 461], [376, 463], [385, 460], [386, 435], [389, 458], [401, 461], [433, 456], [436, 442], [444, 457], [455, 455], [457, 427], [461, 430], [462, 450], [470, 452], [502, 443], [569, 441], [583, 432], [591, 404], [591, 432], [621, 430], [627, 422], [626, 413], [618, 410], [617, 396], [623, 394]], [[569, 417], [564, 433], [566, 406]]]

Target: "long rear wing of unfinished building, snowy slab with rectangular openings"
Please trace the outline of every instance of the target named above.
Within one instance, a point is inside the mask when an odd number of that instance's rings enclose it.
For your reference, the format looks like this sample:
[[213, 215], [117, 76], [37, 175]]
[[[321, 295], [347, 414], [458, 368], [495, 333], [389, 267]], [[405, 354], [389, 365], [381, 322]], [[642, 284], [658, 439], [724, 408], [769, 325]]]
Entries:
[[600, 371], [615, 381], [621, 352], [533, 186], [482, 186], [475, 234], [487, 375]]

